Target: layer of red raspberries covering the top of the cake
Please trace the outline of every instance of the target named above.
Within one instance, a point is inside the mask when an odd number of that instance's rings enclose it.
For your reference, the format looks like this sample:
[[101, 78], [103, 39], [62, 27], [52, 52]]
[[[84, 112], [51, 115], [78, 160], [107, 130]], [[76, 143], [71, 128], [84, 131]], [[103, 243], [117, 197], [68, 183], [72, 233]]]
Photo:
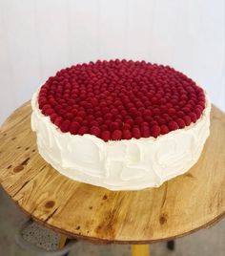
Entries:
[[157, 138], [201, 117], [205, 94], [169, 66], [97, 60], [51, 76], [39, 91], [38, 105], [63, 133], [105, 141]]

